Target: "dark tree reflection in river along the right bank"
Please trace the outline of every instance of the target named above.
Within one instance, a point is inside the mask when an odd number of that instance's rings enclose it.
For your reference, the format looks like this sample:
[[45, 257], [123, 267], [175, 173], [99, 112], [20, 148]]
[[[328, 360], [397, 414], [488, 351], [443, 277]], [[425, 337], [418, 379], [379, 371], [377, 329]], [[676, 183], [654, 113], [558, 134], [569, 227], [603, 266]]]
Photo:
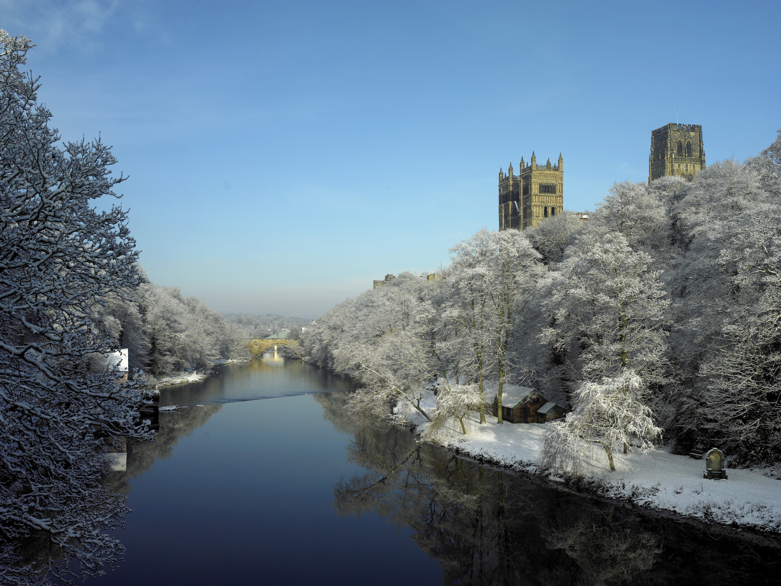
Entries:
[[348, 459], [368, 470], [337, 483], [334, 507], [411, 527], [420, 548], [440, 560], [445, 584], [683, 584], [715, 569], [719, 581], [761, 584], [781, 569], [772, 542], [711, 538], [695, 523], [418, 444], [403, 428], [360, 425], [330, 411], [338, 412], [337, 394], [317, 400], [337, 427], [355, 430]]

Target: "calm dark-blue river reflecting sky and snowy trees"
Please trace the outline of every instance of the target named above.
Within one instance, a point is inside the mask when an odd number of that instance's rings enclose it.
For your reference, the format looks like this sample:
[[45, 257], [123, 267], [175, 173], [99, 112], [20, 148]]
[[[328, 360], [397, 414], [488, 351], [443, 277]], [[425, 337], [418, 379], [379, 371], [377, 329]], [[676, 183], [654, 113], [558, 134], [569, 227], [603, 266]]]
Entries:
[[348, 388], [255, 359], [162, 391], [190, 407], [112, 479], [126, 561], [91, 584], [778, 583], [775, 541], [419, 445], [345, 413]]

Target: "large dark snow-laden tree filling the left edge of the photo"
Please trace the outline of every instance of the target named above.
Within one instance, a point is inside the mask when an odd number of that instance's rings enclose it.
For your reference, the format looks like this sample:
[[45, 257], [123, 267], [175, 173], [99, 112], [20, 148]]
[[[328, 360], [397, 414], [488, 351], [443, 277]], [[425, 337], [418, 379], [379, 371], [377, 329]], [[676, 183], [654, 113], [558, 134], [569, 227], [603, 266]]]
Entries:
[[[34, 45], [5, 31], [0, 45], [0, 581], [27, 584], [114, 565], [122, 546], [105, 530], [127, 507], [101, 484], [101, 452], [112, 436], [150, 438], [150, 398], [86, 368], [119, 348], [107, 299], [141, 283], [127, 213], [92, 207], [123, 180], [115, 159], [100, 140], [59, 147], [20, 71]], [[30, 561], [33, 536], [48, 546]]]

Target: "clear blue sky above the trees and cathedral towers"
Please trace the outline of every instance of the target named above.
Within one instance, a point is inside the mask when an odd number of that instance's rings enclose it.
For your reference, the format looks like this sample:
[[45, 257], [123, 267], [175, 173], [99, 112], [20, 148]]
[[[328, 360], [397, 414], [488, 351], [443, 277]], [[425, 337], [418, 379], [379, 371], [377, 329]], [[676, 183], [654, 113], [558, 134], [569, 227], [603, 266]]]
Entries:
[[0, 0], [0, 27], [62, 138], [113, 145], [149, 277], [223, 312], [435, 270], [532, 150], [593, 209], [676, 107], [708, 163], [781, 127], [779, 2]]

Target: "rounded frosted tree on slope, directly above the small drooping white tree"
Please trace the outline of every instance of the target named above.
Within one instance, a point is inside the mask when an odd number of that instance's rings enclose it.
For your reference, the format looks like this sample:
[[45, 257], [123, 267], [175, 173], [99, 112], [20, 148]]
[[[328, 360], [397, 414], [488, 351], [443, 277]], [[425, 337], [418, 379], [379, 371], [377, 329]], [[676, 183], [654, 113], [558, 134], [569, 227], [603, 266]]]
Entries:
[[664, 383], [669, 298], [651, 256], [622, 234], [580, 242], [551, 280], [543, 304], [551, 325], [541, 339], [566, 356], [571, 380], [598, 381], [624, 370]]

